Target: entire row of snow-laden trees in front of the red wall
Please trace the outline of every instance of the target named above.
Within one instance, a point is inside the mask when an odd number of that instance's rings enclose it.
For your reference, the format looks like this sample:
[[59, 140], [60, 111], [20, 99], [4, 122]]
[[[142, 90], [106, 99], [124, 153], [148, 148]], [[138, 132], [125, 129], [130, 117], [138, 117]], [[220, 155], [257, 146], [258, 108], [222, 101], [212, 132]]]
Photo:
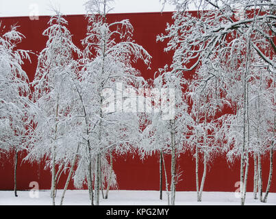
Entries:
[[[116, 187], [114, 154], [138, 151], [143, 159], [158, 152], [160, 198], [164, 169], [168, 205], [175, 205], [181, 179], [175, 160], [190, 151], [197, 201], [208, 180], [208, 162], [226, 154], [229, 162], [240, 162], [241, 205], [249, 157], [254, 198], [266, 202], [275, 153], [275, 1], [163, 1], [176, 12], [157, 40], [167, 42], [173, 60], [152, 81], [134, 67], [137, 60], [150, 66], [151, 55], [131, 39], [129, 20], [107, 22], [110, 2], [86, 2], [83, 49], [73, 43], [60, 12], [50, 18], [32, 83], [21, 68], [29, 52], [16, 50], [23, 35], [16, 27], [0, 35], [0, 152], [15, 153], [15, 196], [21, 150], [27, 151], [25, 161], [44, 160], [51, 170], [53, 205], [62, 172], [68, 178], [60, 205], [71, 180], [76, 188], [87, 185], [91, 205], [99, 205], [100, 192], [108, 198], [110, 187]], [[192, 4], [197, 16], [188, 12]], [[186, 77], [191, 70], [193, 77]], [[233, 113], [218, 116], [225, 106]], [[171, 155], [170, 173], [164, 154]], [[263, 195], [266, 154], [270, 172]]]

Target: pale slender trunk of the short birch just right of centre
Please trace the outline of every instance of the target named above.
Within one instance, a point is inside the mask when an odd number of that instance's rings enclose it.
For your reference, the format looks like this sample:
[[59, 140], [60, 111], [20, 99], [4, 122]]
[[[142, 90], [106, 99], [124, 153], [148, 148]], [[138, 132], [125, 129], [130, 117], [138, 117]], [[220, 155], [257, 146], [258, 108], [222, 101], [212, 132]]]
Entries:
[[[174, 120], [171, 120], [171, 127], [174, 129]], [[175, 205], [175, 133], [171, 131], [171, 205]]]

